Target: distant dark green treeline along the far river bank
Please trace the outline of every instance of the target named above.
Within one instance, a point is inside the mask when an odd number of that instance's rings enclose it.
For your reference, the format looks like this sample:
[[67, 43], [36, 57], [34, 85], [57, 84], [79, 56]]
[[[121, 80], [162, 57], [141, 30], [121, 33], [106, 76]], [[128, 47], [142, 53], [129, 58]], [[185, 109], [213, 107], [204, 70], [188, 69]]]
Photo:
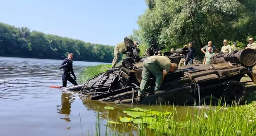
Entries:
[[114, 46], [93, 44], [0, 23], [0, 56], [112, 62]]

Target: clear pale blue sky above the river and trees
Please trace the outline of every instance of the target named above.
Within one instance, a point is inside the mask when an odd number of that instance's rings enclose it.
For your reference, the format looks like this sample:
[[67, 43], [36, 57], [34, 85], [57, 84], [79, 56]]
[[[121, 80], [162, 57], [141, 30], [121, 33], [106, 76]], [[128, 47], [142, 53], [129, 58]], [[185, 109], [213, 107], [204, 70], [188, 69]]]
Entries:
[[1, 0], [0, 22], [45, 34], [116, 45], [139, 29], [145, 0]]

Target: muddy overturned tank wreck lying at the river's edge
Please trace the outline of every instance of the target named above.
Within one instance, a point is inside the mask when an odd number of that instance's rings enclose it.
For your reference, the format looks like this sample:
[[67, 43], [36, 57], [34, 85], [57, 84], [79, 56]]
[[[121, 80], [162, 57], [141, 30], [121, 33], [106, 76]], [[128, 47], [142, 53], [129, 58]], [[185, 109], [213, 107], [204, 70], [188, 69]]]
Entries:
[[[189, 48], [176, 50], [177, 54], [167, 54], [172, 63], [180, 62], [181, 54]], [[134, 54], [137, 55], [137, 54]], [[146, 57], [145, 57], [146, 58]], [[154, 94], [155, 78], [148, 79], [144, 97], [137, 97], [141, 82], [142, 64], [145, 58], [127, 57], [122, 65], [87, 80], [84, 84], [63, 88], [65, 91], [78, 91], [91, 100], [115, 103], [139, 104], [209, 104], [222, 102], [241, 104], [245, 101], [246, 91], [240, 79], [247, 74], [256, 83], [256, 76], [248, 67], [256, 64], [256, 52], [242, 49], [231, 54], [215, 54], [212, 64], [194, 64], [179, 67], [165, 77], [161, 90], [164, 94]]]

